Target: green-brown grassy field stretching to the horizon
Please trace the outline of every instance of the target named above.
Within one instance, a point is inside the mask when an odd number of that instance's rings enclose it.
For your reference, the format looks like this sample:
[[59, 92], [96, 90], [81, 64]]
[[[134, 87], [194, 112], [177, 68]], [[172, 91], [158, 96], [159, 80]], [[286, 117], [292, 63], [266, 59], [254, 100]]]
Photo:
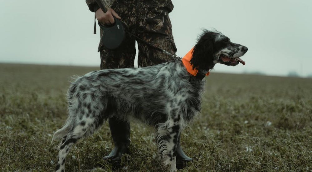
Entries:
[[[0, 64], [0, 171], [53, 171], [52, 134], [67, 118], [70, 76], [98, 68]], [[214, 73], [202, 114], [181, 135], [194, 159], [178, 171], [312, 171], [312, 79]], [[66, 171], [111, 171], [107, 125], [81, 139]], [[119, 171], [166, 171], [154, 130], [131, 123], [131, 154]]]

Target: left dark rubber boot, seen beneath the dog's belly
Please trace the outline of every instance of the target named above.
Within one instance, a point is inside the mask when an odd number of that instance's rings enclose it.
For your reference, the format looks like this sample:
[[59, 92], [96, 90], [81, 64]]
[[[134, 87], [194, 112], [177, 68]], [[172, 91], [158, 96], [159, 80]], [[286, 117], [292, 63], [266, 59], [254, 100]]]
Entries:
[[109, 155], [103, 157], [103, 159], [109, 160], [113, 166], [119, 168], [122, 155], [130, 153], [130, 123], [115, 117], [110, 118], [108, 123], [110, 125], [110, 133], [112, 134], [115, 148]]

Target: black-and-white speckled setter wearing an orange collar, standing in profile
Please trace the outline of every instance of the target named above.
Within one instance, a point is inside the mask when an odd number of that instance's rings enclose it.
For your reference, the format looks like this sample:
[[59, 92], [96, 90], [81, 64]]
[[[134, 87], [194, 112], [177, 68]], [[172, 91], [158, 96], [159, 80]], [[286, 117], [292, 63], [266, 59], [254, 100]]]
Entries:
[[189, 60], [98, 70], [77, 78], [67, 92], [68, 119], [52, 138], [62, 138], [55, 170], [64, 172], [73, 144], [114, 116], [125, 121], [134, 117], [154, 126], [158, 154], [165, 166], [176, 171], [177, 139], [201, 111], [205, 74], [216, 63], [245, 65], [240, 57], [247, 50], [220, 32], [204, 30], [188, 53]]

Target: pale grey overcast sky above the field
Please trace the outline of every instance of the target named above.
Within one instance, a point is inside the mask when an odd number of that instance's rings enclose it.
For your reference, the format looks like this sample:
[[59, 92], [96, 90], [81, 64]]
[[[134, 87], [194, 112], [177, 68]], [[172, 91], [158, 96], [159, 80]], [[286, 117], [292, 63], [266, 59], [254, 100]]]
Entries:
[[[246, 62], [213, 72], [312, 76], [311, 0], [172, 0], [177, 55], [202, 29], [217, 29], [248, 47]], [[85, 1], [1, 0], [0, 63], [100, 66], [100, 34]], [[99, 31], [99, 27], [97, 28]]]

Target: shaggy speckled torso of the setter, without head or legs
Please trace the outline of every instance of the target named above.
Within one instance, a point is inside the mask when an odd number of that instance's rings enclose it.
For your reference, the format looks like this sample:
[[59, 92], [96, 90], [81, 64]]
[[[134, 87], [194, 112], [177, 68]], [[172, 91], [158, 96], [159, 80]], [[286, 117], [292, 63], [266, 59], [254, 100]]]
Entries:
[[73, 113], [78, 121], [84, 116], [96, 117], [97, 126], [112, 116], [128, 120], [129, 115], [153, 126], [180, 115], [189, 121], [200, 111], [198, 89], [204, 84], [194, 85], [191, 79], [183, 64], [175, 61], [146, 68], [93, 71], [71, 83], [69, 111], [80, 111]]

